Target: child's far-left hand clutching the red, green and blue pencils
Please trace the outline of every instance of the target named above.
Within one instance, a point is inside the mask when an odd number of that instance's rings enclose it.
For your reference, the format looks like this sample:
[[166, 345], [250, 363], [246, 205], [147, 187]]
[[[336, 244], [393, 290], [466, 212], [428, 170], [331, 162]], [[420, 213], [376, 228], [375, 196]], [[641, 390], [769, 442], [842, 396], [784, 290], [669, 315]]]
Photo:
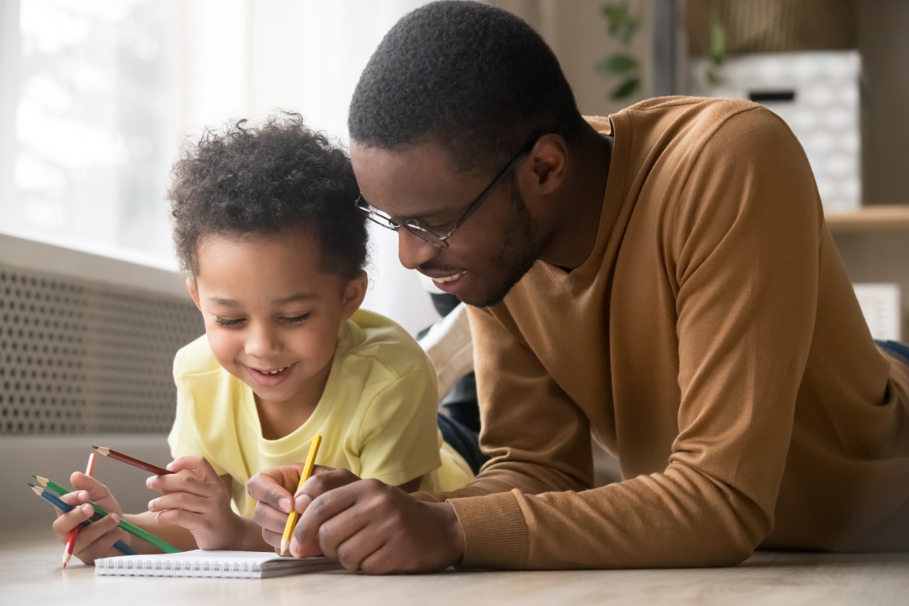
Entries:
[[95, 514], [92, 506], [85, 504], [91, 500], [105, 508], [110, 515], [79, 529], [73, 555], [86, 564], [91, 564], [98, 558], [123, 555], [114, 548], [114, 543], [122, 540], [128, 545], [130, 536], [125, 530], [117, 528], [123, 510], [120, 509], [114, 495], [104, 484], [81, 471], [76, 471], [70, 476], [70, 482], [75, 491], [65, 494], [60, 499], [67, 505], [72, 505], [74, 509], [66, 513], [56, 510], [57, 519], [53, 527], [56, 536], [65, 543], [70, 530]]

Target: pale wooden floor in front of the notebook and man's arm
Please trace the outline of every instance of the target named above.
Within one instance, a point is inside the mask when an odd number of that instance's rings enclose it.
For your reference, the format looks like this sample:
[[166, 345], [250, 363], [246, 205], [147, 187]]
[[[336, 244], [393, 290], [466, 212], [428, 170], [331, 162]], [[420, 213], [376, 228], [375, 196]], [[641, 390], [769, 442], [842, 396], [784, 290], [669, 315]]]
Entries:
[[759, 552], [735, 568], [662, 571], [445, 571], [368, 577], [343, 571], [267, 580], [95, 577], [60, 568], [49, 520], [0, 528], [0, 602], [66, 606], [305, 604], [909, 604], [909, 553]]

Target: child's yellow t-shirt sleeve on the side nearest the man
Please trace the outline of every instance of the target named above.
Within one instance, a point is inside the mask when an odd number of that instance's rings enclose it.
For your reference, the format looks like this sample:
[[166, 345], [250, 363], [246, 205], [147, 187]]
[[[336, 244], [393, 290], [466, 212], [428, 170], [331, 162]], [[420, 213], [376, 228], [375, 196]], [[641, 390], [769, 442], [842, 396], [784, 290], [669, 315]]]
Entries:
[[425, 365], [370, 390], [359, 428], [360, 476], [395, 486], [442, 465], [435, 373]]

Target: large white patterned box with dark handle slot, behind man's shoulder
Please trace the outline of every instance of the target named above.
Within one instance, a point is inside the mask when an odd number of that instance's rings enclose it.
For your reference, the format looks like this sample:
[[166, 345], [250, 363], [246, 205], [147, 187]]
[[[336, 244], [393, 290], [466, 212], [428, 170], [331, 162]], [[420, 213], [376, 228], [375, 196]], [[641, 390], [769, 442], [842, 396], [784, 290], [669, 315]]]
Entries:
[[708, 59], [693, 59], [696, 96], [751, 99], [784, 119], [804, 147], [824, 210], [862, 204], [858, 51], [755, 53], [727, 57], [711, 85]]

